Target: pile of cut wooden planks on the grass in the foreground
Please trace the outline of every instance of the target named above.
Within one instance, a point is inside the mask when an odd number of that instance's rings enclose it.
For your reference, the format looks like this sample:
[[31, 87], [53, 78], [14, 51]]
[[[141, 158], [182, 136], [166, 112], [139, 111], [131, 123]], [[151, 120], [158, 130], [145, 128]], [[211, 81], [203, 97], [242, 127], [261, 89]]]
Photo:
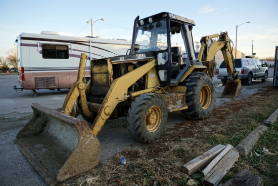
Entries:
[[181, 170], [192, 175], [205, 167], [202, 171], [202, 176], [206, 183], [208, 185], [218, 185], [238, 158], [239, 152], [234, 151], [233, 146], [219, 144], [184, 164]]

